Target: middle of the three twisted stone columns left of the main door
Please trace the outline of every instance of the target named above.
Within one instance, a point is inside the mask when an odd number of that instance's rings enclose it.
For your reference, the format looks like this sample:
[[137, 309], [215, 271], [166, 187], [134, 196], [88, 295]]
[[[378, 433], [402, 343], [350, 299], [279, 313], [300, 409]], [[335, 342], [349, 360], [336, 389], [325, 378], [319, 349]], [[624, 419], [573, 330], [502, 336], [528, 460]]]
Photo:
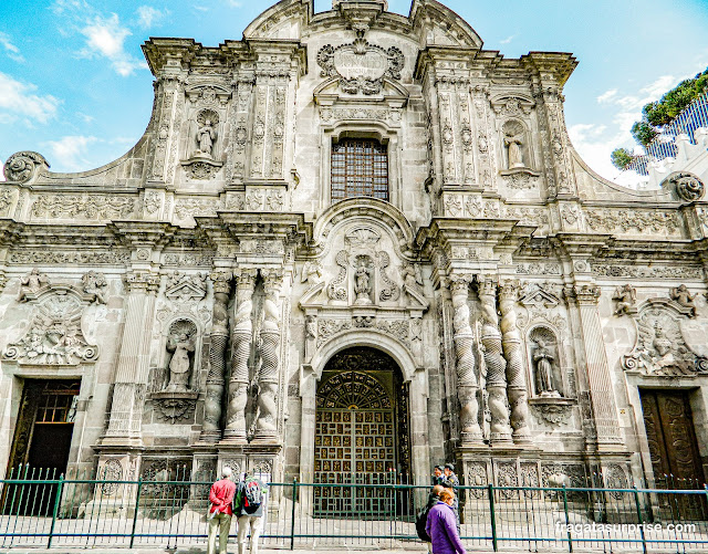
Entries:
[[232, 335], [229, 406], [223, 436], [231, 442], [246, 443], [246, 405], [248, 404], [248, 358], [251, 355], [253, 324], [253, 285], [257, 270], [241, 270], [236, 274], [236, 316]]

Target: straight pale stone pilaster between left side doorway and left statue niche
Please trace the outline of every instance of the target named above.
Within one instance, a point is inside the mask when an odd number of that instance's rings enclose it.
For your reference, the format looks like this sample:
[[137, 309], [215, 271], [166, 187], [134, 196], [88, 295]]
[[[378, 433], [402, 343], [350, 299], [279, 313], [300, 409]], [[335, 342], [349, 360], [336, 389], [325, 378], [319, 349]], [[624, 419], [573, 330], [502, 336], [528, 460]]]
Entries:
[[124, 282], [127, 292], [125, 325], [114, 379], [111, 418], [102, 443], [140, 446], [140, 421], [159, 275], [149, 271], [133, 271], [126, 274]]

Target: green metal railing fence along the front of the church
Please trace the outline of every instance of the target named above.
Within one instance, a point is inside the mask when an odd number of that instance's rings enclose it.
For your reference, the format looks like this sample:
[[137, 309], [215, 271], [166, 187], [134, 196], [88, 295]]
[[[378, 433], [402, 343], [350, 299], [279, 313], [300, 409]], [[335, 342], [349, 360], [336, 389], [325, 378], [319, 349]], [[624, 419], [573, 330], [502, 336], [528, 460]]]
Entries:
[[[206, 543], [210, 480], [112, 480], [23, 468], [0, 481], [0, 548], [186, 547]], [[101, 477], [104, 477], [102, 479]], [[177, 477], [177, 479], [175, 479]], [[676, 483], [684, 484], [686, 483]], [[420, 541], [415, 519], [429, 487], [270, 483], [262, 544], [279, 548], [400, 547]], [[319, 499], [346, 505], [322, 516]], [[708, 489], [460, 487], [469, 550], [708, 552]], [[381, 506], [377, 508], [377, 506]], [[232, 526], [236, 534], [236, 523]]]

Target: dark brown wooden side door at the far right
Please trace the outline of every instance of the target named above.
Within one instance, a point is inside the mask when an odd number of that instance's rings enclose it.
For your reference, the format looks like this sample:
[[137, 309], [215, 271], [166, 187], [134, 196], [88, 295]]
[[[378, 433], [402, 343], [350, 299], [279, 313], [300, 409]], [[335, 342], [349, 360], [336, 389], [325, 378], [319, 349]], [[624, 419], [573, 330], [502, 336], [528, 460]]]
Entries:
[[657, 485], [683, 489], [704, 483], [688, 391], [642, 389], [641, 395]]

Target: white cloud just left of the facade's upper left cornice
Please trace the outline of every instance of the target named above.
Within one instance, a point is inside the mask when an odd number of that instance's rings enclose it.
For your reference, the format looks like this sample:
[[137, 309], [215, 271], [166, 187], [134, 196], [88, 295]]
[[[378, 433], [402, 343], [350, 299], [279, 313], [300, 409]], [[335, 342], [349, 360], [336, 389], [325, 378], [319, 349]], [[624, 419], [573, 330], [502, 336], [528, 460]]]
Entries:
[[125, 39], [132, 33], [121, 25], [116, 13], [112, 13], [108, 18], [95, 15], [86, 27], [81, 29], [81, 34], [86, 38], [86, 46], [82, 50], [82, 54], [87, 58], [107, 58], [118, 75], [125, 77], [134, 70], [145, 66], [143, 62], [125, 51]]

